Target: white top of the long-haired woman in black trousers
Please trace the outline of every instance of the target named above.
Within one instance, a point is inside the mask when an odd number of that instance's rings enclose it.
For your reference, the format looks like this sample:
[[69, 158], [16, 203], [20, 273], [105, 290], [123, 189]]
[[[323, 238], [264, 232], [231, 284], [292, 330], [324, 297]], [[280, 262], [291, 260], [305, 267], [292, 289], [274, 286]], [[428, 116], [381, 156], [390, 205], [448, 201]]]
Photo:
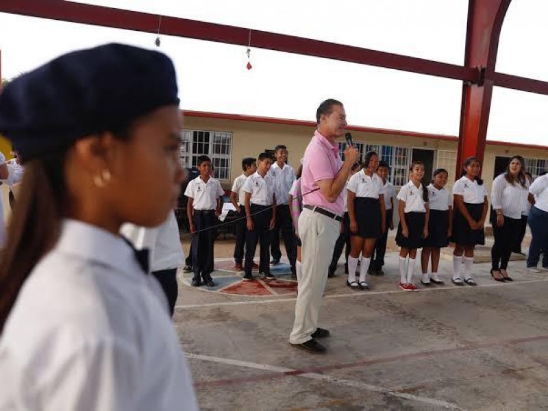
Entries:
[[529, 196], [529, 184], [525, 179], [525, 187], [519, 182], [509, 183], [504, 177], [506, 173], [499, 175], [493, 180], [491, 188], [491, 204], [495, 210], [502, 209], [503, 216], [509, 219], [519, 220], [523, 210], [524, 199]]

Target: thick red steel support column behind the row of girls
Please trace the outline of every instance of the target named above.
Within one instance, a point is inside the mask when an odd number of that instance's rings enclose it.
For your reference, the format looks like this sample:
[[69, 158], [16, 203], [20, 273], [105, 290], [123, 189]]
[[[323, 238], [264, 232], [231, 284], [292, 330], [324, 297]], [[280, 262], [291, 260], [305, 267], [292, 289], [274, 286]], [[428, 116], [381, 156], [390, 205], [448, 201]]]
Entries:
[[511, 0], [469, 0], [464, 66], [477, 69], [476, 84], [464, 82], [457, 173], [471, 156], [483, 162], [502, 22]]

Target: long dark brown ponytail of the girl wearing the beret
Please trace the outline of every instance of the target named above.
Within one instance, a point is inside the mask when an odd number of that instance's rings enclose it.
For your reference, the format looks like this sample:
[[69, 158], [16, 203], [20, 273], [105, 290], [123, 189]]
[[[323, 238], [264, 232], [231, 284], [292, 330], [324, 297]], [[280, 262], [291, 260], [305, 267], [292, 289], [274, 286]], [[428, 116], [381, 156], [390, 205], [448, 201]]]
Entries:
[[25, 164], [0, 260], [0, 334], [25, 280], [60, 235], [66, 150]]

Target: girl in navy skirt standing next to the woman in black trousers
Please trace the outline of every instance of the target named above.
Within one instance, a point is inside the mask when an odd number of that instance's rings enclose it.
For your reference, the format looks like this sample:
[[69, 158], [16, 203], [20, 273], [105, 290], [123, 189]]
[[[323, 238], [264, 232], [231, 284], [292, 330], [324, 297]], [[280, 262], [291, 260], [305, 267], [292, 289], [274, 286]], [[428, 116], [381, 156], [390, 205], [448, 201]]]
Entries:
[[[463, 286], [464, 283], [475, 286], [472, 278], [474, 264], [474, 248], [477, 244], [485, 244], [484, 223], [487, 217], [487, 189], [479, 178], [481, 166], [475, 158], [467, 158], [464, 162], [462, 177], [453, 186], [453, 284]], [[460, 277], [460, 269], [464, 260], [464, 282]]]

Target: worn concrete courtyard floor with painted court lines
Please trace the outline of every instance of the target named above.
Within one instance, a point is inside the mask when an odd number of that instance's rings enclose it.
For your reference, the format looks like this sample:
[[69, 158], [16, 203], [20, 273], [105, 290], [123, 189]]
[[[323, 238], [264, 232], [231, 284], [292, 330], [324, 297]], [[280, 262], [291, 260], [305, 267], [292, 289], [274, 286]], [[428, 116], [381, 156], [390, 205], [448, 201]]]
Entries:
[[[219, 264], [232, 242], [216, 245]], [[393, 249], [393, 245], [390, 246]], [[188, 247], [185, 246], [188, 251]], [[221, 264], [223, 265], [223, 264]], [[226, 264], [225, 264], [226, 265]], [[397, 253], [372, 290], [345, 286], [343, 266], [327, 282], [320, 316], [332, 336], [324, 355], [288, 345], [294, 292], [231, 295], [190, 288], [179, 272], [174, 322], [202, 410], [547, 410], [548, 273], [512, 261], [514, 282], [398, 290]], [[216, 271], [216, 281], [234, 277]], [[281, 279], [288, 276], [281, 275]]]

